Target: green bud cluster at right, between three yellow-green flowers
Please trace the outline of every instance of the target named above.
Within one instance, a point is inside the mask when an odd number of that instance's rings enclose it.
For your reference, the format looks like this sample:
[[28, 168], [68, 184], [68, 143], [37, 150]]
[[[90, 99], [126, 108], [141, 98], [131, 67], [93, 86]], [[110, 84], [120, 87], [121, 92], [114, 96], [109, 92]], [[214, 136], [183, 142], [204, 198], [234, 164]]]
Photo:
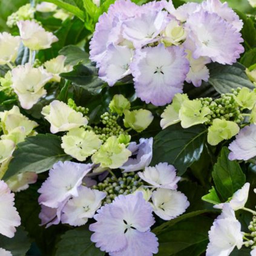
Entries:
[[240, 88], [233, 90], [232, 94], [222, 94], [220, 98], [214, 100], [212, 100], [211, 97], [199, 99], [203, 107], [208, 107], [211, 110], [211, 113], [206, 116], [208, 118], [208, 121], [205, 122], [206, 125], [211, 125], [212, 121], [216, 118], [233, 121], [235, 123], [240, 123], [243, 120], [240, 106], [234, 98], [239, 90]]

